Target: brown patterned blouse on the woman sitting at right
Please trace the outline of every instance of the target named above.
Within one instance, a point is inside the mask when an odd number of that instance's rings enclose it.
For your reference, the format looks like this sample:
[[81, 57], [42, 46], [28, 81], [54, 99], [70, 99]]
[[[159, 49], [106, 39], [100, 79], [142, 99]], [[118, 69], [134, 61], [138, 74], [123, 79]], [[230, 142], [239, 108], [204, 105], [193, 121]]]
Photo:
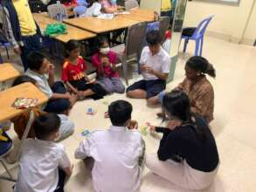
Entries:
[[191, 85], [191, 81], [186, 78], [177, 88], [189, 96], [191, 112], [203, 116], [207, 123], [213, 120], [214, 91], [209, 80], [204, 77]]

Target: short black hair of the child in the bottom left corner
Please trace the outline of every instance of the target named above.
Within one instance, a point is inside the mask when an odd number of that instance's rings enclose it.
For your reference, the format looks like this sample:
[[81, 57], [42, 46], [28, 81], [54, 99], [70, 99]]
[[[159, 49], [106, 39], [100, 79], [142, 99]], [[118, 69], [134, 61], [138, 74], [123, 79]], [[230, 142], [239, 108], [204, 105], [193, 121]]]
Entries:
[[51, 134], [59, 131], [60, 119], [55, 113], [40, 114], [33, 122], [36, 137], [39, 140], [45, 140]]

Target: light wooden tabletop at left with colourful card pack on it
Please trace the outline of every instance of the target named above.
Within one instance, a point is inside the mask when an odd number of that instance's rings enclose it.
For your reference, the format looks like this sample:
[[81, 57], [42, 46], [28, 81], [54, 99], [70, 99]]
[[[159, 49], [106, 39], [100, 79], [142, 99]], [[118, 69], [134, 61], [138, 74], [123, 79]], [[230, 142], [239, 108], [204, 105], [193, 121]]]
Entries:
[[31, 83], [13, 86], [10, 89], [0, 92], [0, 121], [10, 120], [24, 112], [25, 109], [16, 109], [11, 106], [17, 98], [37, 98], [38, 106], [48, 100], [45, 94]]

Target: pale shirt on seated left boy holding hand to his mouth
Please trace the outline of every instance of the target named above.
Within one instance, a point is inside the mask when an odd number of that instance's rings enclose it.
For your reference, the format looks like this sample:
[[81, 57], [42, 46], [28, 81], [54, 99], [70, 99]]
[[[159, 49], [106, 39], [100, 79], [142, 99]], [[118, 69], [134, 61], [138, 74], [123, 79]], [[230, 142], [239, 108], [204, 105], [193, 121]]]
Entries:
[[31, 69], [28, 69], [25, 72], [25, 75], [30, 76], [32, 79], [35, 79], [38, 83], [38, 88], [41, 90], [41, 92], [45, 93], [45, 95], [50, 99], [52, 97], [52, 89], [49, 86], [48, 83], [48, 75], [42, 75], [38, 72], [34, 72]]

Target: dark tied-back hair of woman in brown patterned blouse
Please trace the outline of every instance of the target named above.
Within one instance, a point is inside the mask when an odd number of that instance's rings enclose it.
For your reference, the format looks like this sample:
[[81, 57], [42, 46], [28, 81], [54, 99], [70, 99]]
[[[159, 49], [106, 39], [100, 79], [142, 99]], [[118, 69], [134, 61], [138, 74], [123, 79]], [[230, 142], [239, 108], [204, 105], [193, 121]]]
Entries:
[[191, 57], [186, 65], [188, 65], [190, 68], [196, 70], [197, 72], [201, 72], [204, 74], [210, 75], [212, 78], [216, 78], [216, 70], [209, 63], [209, 61], [206, 58], [200, 57], [200, 56], [194, 56]]

